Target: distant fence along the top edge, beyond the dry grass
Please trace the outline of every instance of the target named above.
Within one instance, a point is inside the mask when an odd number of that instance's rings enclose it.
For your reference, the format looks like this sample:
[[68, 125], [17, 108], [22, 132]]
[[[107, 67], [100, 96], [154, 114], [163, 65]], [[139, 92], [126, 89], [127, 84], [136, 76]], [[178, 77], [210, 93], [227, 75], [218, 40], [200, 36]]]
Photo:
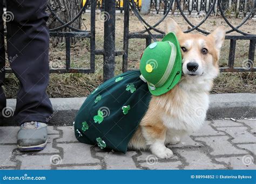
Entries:
[[[116, 0], [116, 10], [119, 10], [121, 13], [124, 11], [124, 1], [125, 0]], [[143, 0], [134, 0], [136, 8], [140, 10], [142, 8]], [[81, 7], [85, 4], [85, 0], [82, 1]], [[131, 2], [131, 0], [130, 0]], [[193, 15], [200, 13], [207, 13], [210, 11], [211, 6], [214, 3], [214, 0], [179, 0], [181, 9], [185, 14]], [[220, 0], [221, 9], [228, 15], [232, 16], [246, 16], [247, 13], [250, 13], [253, 8], [254, 0]], [[104, 1], [97, 0], [96, 8], [104, 11]], [[86, 6], [86, 9], [90, 9], [90, 2]], [[174, 1], [171, 4], [171, 0], [150, 0], [150, 10], [151, 13], [165, 14], [169, 6], [172, 6], [171, 14], [180, 15], [180, 11], [177, 3]], [[215, 3], [212, 13], [219, 12], [218, 4]]]

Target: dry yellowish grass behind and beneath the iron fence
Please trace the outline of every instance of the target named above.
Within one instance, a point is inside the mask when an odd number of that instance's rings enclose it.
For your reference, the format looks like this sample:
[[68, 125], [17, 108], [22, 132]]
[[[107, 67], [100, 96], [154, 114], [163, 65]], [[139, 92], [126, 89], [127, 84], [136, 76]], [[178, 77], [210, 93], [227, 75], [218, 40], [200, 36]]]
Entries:
[[[153, 25], [161, 16], [144, 16], [145, 20]], [[188, 28], [188, 24], [181, 17], [172, 17], [183, 30]], [[190, 18], [196, 24], [200, 20]], [[238, 25], [241, 19], [230, 19], [233, 25]], [[84, 15], [83, 22], [87, 29], [90, 29], [90, 16]], [[96, 15], [96, 48], [103, 48], [103, 25], [99, 16]], [[220, 17], [210, 17], [200, 28], [211, 32], [219, 25], [226, 25], [224, 19]], [[165, 23], [158, 26], [160, 30], [165, 30]], [[130, 31], [143, 30], [143, 25], [139, 20], [130, 16]], [[255, 34], [255, 21], [249, 20], [241, 27], [242, 31]], [[231, 33], [238, 34], [238, 33]], [[249, 42], [239, 40], [235, 55], [235, 66], [242, 66], [242, 62], [247, 59]], [[116, 16], [116, 49], [123, 48], [123, 15]], [[140, 54], [145, 48], [145, 39], [130, 39], [129, 42], [129, 68], [136, 68]], [[229, 41], [225, 41], [221, 51], [220, 66], [226, 66], [229, 52]], [[256, 53], [255, 53], [256, 58]], [[90, 62], [90, 40], [83, 39], [71, 45], [71, 66], [89, 67]], [[50, 74], [48, 94], [50, 97], [80, 97], [88, 95], [100, 83], [103, 82], [103, 56], [96, 56], [96, 71], [94, 74]], [[65, 44], [57, 46], [50, 45], [50, 67], [65, 67]], [[122, 72], [122, 56], [116, 57], [115, 74]], [[15, 98], [18, 90], [18, 80], [13, 74], [6, 74], [4, 85], [5, 94], [8, 98]], [[255, 93], [254, 73], [221, 73], [214, 81], [211, 93]]]

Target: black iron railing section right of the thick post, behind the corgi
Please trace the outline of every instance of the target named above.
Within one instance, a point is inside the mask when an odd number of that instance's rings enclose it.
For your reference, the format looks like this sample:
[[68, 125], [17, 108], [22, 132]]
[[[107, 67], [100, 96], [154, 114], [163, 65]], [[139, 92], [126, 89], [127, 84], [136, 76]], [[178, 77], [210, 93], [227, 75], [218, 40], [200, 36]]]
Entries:
[[[140, 19], [140, 21], [142, 21], [144, 24], [146, 24], [149, 27], [149, 30], [154, 30], [154, 31], [159, 33], [159, 34], [154, 34], [153, 35], [155, 38], [163, 38], [164, 37], [164, 32], [156, 29], [156, 26], [159, 25], [161, 22], [163, 22], [163, 20], [169, 14], [169, 12], [171, 11], [173, 2], [174, 2], [174, 0], [171, 0], [169, 8], [166, 10], [163, 18], [161, 18], [159, 20], [159, 22], [157, 22], [156, 24], [154, 24], [152, 26], [147, 24], [146, 21], [142, 18], [142, 16], [139, 15], [138, 12], [134, 13], [134, 15], [136, 15], [137, 18]], [[215, 4], [217, 3], [218, 7], [219, 7], [219, 10], [220, 10], [220, 15], [224, 18], [227, 25], [231, 27], [231, 29], [226, 32], [227, 36], [225, 37], [225, 39], [230, 40], [230, 53], [229, 53], [229, 56], [228, 56], [228, 64], [227, 64], [227, 67], [221, 67], [220, 71], [221, 72], [256, 72], [256, 67], [253, 67], [256, 35], [255, 34], [248, 34], [248, 33], [245, 33], [245, 32], [242, 32], [242, 31], [239, 30], [239, 27], [244, 25], [246, 23], [246, 21], [254, 15], [255, 8], [256, 8], [255, 1], [254, 1], [254, 5], [253, 5], [252, 10], [248, 13], [248, 15], [242, 20], [242, 22], [238, 26], [233, 26], [228, 21], [228, 19], [225, 16], [224, 10], [222, 8], [221, 1], [214, 0], [212, 5], [210, 6], [210, 9], [207, 11], [207, 14], [205, 15], [204, 19], [201, 20], [201, 22], [197, 25], [193, 25], [187, 19], [183, 10], [181, 9], [180, 1], [178, 0], [178, 1], [175, 1], [175, 2], [177, 4], [177, 8], [179, 9], [179, 11], [181, 13], [181, 16], [183, 16], [183, 18], [186, 20], [188, 25], [190, 25], [192, 27], [191, 29], [186, 30], [184, 32], [187, 33], [187, 32], [191, 32], [193, 30], [197, 30], [197, 31], [199, 31], [201, 33], [204, 33], [204, 34], [209, 34], [209, 33], [204, 31], [204, 30], [201, 30], [199, 28], [199, 26], [204, 24], [204, 22], [207, 20], [207, 18], [210, 17], [211, 13], [214, 10]], [[194, 2], [196, 2], [196, 0], [194, 0]], [[132, 38], [146, 39], [146, 46], [151, 44], [151, 37], [150, 37], [149, 34], [146, 33], [146, 30], [133, 32], [133, 33], [129, 32], [129, 15], [130, 15], [130, 13], [129, 13], [130, 8], [129, 7], [130, 6], [133, 6], [133, 8], [132, 8], [133, 11], [138, 11], [136, 9], [136, 4], [134, 4], [134, 0], [131, 0], [131, 3], [129, 3], [129, 1], [125, 1], [125, 5], [124, 5], [124, 46], [123, 46], [125, 52], [124, 52], [124, 55], [123, 55], [123, 72], [128, 70], [127, 61], [128, 61], [129, 39], [132, 39]], [[239, 35], [239, 36], [228, 35], [228, 33], [231, 33], [231, 32], [234, 32], [234, 31], [240, 33], [241, 35]], [[235, 46], [236, 46], [237, 40], [250, 40], [250, 46], [248, 48], [248, 66], [250, 66], [250, 68], [234, 67]]]

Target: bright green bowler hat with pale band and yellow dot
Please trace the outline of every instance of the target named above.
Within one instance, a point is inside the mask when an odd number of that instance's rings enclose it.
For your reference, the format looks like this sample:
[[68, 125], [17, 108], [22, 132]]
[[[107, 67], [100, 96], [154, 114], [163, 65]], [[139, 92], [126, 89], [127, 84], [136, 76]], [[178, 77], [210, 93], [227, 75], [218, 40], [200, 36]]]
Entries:
[[163, 95], [179, 82], [181, 65], [179, 42], [171, 32], [145, 49], [140, 59], [140, 77], [147, 82], [152, 95]]

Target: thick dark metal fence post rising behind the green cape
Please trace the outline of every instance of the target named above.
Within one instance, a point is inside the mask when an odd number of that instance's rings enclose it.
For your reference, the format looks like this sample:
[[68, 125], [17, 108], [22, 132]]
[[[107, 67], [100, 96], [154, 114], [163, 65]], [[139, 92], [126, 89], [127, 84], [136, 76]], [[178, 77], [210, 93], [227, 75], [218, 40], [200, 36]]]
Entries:
[[104, 62], [103, 62], [103, 80], [106, 81], [114, 76], [115, 60], [115, 19], [116, 19], [116, 1], [105, 0], [104, 3]]

